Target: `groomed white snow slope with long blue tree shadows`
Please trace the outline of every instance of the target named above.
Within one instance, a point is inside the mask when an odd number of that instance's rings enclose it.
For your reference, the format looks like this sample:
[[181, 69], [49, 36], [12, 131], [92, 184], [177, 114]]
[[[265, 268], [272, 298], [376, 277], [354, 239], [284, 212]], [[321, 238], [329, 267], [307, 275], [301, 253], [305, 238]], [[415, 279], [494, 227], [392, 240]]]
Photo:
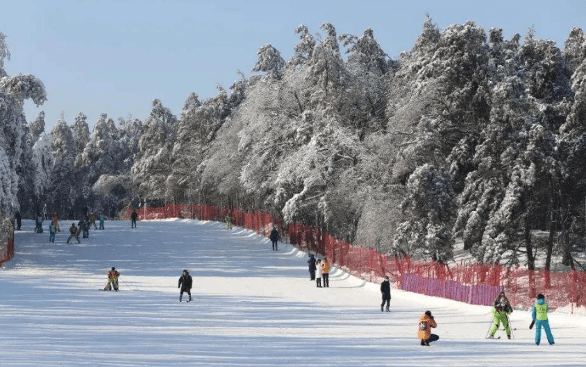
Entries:
[[[15, 234], [0, 269], [0, 366], [585, 366], [586, 317], [553, 312], [555, 345], [511, 315], [514, 339], [487, 340], [491, 307], [392, 289], [334, 268], [310, 282], [308, 255], [241, 228], [192, 220], [106, 221], [82, 244], [54, 244], [47, 222]], [[120, 291], [101, 291], [120, 271]], [[179, 302], [188, 269], [193, 302]], [[185, 296], [184, 296], [185, 299]], [[429, 309], [440, 340], [419, 345]]]

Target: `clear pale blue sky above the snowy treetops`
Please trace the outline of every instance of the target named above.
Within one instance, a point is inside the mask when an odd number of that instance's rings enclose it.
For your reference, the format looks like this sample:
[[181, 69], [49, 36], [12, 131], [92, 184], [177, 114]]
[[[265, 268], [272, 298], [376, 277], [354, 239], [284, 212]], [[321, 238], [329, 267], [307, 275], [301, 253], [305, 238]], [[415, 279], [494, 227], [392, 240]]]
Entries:
[[145, 119], [153, 99], [180, 115], [190, 92], [209, 98], [217, 85], [228, 89], [237, 70], [250, 76], [262, 44], [288, 60], [298, 24], [313, 34], [324, 22], [339, 35], [371, 27], [397, 58], [411, 49], [426, 13], [440, 29], [472, 19], [486, 31], [503, 28], [507, 38], [533, 26], [560, 48], [572, 27], [586, 30], [585, 1], [0, 0], [0, 32], [11, 53], [8, 74], [33, 74], [47, 89], [47, 103], [27, 101], [25, 112], [31, 121], [44, 110], [49, 132], [60, 112], [70, 124], [83, 112], [90, 126], [100, 113]]

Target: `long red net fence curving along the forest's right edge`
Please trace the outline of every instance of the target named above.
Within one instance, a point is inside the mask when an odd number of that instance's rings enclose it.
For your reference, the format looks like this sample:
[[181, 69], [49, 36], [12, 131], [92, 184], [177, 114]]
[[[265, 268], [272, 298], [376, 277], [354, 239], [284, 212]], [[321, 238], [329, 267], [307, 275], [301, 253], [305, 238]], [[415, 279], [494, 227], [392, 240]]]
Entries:
[[[122, 216], [130, 219], [132, 210]], [[243, 212], [228, 207], [204, 204], [167, 204], [137, 210], [139, 220], [192, 218], [204, 221], [224, 221], [231, 217], [233, 225], [269, 236], [275, 226], [283, 241], [301, 250], [328, 257], [344, 271], [369, 282], [381, 282], [388, 275], [396, 288], [467, 302], [472, 305], [492, 305], [504, 289], [515, 307], [533, 305], [537, 293], [543, 293], [551, 309], [564, 307], [574, 313], [576, 307], [586, 307], [586, 273], [530, 271], [527, 268], [505, 267], [499, 264], [458, 262], [446, 266], [437, 262], [421, 262], [410, 257], [378, 253], [371, 248], [353, 246], [337, 239], [321, 228], [301, 223], [283, 226], [277, 216], [265, 212]]]

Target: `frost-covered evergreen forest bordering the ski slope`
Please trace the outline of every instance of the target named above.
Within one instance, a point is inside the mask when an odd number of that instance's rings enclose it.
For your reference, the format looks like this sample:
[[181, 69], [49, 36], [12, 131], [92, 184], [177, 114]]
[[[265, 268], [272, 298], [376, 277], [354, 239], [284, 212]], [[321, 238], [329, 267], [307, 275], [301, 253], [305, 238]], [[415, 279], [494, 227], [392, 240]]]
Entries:
[[[249, 78], [176, 116], [157, 99], [144, 121], [102, 114], [27, 121], [41, 80], [8, 76], [0, 33], [0, 207], [63, 218], [83, 208], [205, 203], [270, 212], [389, 255], [449, 262], [457, 242], [481, 263], [583, 269], [586, 35], [563, 49], [475, 22], [428, 17], [393, 60], [374, 30], [294, 29], [285, 60], [257, 51]], [[542, 233], [537, 235], [536, 233]]]

